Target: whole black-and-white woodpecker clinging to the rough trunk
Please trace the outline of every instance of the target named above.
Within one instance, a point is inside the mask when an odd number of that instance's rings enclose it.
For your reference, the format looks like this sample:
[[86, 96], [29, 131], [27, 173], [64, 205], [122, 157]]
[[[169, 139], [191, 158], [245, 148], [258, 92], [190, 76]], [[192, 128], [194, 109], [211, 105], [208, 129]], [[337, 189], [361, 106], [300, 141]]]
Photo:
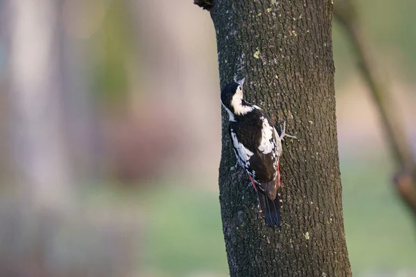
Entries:
[[280, 226], [282, 202], [277, 190], [281, 187], [281, 141], [284, 137], [297, 138], [285, 133], [285, 123], [279, 135], [263, 109], [245, 102], [244, 80], [225, 85], [221, 91], [221, 104], [229, 114], [229, 136], [234, 154], [257, 192], [266, 225]]

